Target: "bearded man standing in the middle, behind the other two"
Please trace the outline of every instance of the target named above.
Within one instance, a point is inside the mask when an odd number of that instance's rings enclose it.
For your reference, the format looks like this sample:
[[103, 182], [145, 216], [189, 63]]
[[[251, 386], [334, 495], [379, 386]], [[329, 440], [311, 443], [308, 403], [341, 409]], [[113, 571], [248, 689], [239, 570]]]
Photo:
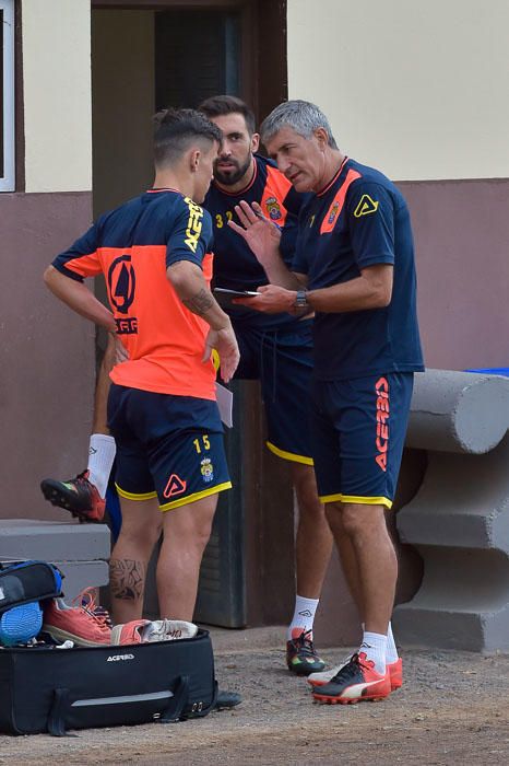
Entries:
[[[214, 179], [203, 204], [214, 231], [214, 285], [257, 290], [269, 279], [245, 240], [232, 230], [241, 200], [258, 202], [273, 223], [284, 262], [291, 266], [297, 217], [306, 197], [297, 194], [271, 160], [257, 154], [259, 136], [247, 105], [234, 96], [208, 98], [199, 109], [223, 134]], [[268, 448], [286, 461], [298, 504], [297, 594], [287, 629], [288, 670], [308, 675], [324, 668], [312, 645], [315, 613], [329, 564], [332, 536], [317, 495], [307, 420], [312, 369], [310, 317], [262, 315], [228, 304], [240, 363], [236, 379], [259, 380], [268, 420]]]

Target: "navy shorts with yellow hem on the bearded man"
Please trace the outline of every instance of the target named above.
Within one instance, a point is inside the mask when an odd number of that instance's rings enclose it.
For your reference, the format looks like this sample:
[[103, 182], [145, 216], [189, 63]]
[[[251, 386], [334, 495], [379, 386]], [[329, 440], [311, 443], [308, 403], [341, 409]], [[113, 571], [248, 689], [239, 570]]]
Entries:
[[260, 381], [268, 448], [280, 457], [306, 465], [312, 465], [309, 432], [311, 328], [312, 320], [276, 330], [234, 322], [240, 350], [235, 378]]

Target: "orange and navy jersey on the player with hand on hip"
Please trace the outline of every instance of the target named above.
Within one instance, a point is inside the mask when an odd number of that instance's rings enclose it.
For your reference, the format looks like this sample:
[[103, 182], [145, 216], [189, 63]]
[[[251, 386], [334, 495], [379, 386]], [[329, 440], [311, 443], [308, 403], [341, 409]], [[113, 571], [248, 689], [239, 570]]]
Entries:
[[166, 269], [178, 260], [199, 266], [210, 283], [209, 213], [173, 189], [152, 189], [97, 222], [55, 260], [67, 277], [104, 274], [117, 335], [129, 361], [114, 383], [178, 396], [215, 398], [215, 371], [202, 362], [209, 325], [179, 300]]

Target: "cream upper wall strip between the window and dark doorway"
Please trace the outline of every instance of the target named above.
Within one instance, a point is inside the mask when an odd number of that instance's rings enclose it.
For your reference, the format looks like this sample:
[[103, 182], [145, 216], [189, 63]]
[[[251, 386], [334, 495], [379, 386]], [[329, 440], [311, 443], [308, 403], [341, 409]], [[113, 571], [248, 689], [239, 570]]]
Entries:
[[26, 192], [92, 188], [90, 0], [23, 0]]

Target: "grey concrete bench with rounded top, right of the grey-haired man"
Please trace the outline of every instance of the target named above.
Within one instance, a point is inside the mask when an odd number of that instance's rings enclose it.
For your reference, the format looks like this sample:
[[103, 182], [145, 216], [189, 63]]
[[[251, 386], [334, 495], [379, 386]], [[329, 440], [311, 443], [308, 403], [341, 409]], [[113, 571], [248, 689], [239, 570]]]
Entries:
[[509, 379], [428, 370], [415, 378], [406, 446], [428, 465], [398, 514], [424, 560], [422, 585], [394, 610], [406, 646], [509, 649]]

